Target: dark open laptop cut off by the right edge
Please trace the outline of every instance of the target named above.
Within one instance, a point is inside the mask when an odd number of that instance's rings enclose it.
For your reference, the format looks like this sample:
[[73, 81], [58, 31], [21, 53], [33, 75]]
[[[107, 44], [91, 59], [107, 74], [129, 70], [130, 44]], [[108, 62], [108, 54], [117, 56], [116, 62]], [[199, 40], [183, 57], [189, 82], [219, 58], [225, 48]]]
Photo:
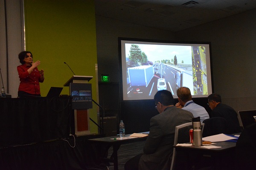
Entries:
[[252, 123], [256, 123], [256, 119], [254, 116], [256, 116], [256, 110], [251, 111], [238, 111], [242, 126], [243, 128], [247, 127], [248, 125], [251, 125]]

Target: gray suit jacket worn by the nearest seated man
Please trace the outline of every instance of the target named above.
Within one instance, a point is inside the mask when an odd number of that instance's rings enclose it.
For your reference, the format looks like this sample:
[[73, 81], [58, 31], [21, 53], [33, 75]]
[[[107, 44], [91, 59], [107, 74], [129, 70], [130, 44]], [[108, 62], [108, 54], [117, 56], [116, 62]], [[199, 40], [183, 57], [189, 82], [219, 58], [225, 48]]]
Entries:
[[[150, 119], [150, 130], [140, 158], [139, 170], [169, 170], [175, 127], [192, 122], [193, 114], [175, 106]], [[189, 132], [188, 132], [189, 133]]]

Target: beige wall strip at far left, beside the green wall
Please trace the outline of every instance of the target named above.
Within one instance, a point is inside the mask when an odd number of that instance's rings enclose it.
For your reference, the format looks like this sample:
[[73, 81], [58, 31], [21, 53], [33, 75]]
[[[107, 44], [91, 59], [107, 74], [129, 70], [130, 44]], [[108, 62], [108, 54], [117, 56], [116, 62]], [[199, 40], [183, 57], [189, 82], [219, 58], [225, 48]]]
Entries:
[[23, 8], [22, 0], [0, 0], [0, 68], [6, 93], [17, 97], [19, 76], [18, 54], [23, 46]]

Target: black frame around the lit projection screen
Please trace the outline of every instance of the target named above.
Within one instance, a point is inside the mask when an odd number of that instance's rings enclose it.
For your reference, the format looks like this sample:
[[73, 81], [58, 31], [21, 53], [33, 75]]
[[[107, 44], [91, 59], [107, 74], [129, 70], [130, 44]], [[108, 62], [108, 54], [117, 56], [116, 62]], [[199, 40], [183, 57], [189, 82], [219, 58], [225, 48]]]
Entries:
[[[122, 41], [134, 41], [134, 42], [148, 42], [148, 43], [166, 43], [166, 44], [206, 44], [209, 45], [209, 66], [210, 67], [210, 80], [211, 80], [211, 93], [214, 93], [213, 86], [213, 71], [212, 71], [212, 49], [211, 42], [199, 42], [199, 41], [175, 41], [175, 40], [151, 40], [151, 39], [139, 39], [139, 38], [126, 38], [118, 37], [118, 51], [119, 51], [119, 91], [120, 91], [120, 102], [140, 102], [140, 101], [151, 101], [153, 99], [128, 99], [124, 100], [123, 95], [123, 67], [122, 67]], [[135, 43], [136, 44], [136, 43]], [[208, 87], [209, 88], [209, 87]], [[211, 94], [211, 93], [208, 93]], [[173, 95], [174, 99], [177, 99], [177, 95]], [[192, 95], [192, 98], [205, 99], [206, 96]]]

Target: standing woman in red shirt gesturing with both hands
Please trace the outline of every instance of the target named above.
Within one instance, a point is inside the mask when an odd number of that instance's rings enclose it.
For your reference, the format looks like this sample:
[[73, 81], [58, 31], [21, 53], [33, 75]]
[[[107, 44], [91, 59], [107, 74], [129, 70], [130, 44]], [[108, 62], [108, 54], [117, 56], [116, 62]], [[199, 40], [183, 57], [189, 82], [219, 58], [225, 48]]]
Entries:
[[20, 78], [18, 97], [41, 96], [39, 82], [44, 82], [44, 70], [38, 71], [40, 61], [33, 62], [30, 51], [22, 51], [19, 59], [22, 65], [17, 66]]

